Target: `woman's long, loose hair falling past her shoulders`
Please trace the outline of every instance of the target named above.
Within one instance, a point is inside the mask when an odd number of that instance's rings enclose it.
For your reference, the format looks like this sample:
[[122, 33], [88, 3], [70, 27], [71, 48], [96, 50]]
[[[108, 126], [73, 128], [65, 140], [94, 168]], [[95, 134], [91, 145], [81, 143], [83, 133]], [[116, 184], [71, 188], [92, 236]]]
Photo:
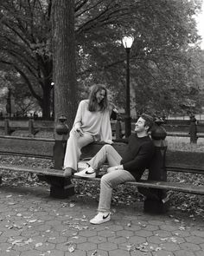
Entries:
[[[101, 102], [97, 102], [96, 94], [100, 90], [105, 90], [105, 97]], [[99, 108], [100, 111], [105, 111], [105, 109], [108, 109], [108, 99], [107, 99], [107, 89], [103, 84], [95, 84], [92, 87], [92, 91], [89, 95], [89, 104], [88, 104], [88, 110], [91, 112], [96, 111]]]

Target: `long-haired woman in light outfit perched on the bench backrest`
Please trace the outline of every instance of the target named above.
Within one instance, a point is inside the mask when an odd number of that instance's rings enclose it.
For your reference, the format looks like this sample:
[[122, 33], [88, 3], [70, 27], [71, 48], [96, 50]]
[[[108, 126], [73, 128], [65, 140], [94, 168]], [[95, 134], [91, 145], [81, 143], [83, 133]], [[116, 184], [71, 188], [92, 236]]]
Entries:
[[66, 176], [77, 171], [80, 149], [92, 141], [105, 141], [112, 144], [107, 89], [102, 84], [94, 85], [89, 99], [81, 101], [78, 107], [73, 128], [67, 140], [64, 159]]

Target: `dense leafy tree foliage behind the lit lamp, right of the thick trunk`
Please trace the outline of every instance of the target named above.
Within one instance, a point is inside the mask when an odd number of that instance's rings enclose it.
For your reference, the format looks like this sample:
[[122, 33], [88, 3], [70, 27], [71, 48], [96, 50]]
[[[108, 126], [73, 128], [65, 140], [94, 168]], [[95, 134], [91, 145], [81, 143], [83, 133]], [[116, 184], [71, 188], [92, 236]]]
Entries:
[[[92, 16], [90, 20], [94, 20], [95, 25], [92, 28], [90, 23], [89, 26], [82, 23], [78, 30], [86, 31], [86, 41], [81, 41], [80, 50], [81, 56], [86, 56], [86, 68], [81, 70], [81, 74], [92, 74], [89, 75], [92, 80], [111, 84], [118, 105], [123, 106], [125, 54], [118, 40], [124, 33], [129, 33], [135, 36], [131, 49], [131, 86], [136, 93], [136, 108], [164, 108], [168, 112], [181, 109], [180, 102], [189, 102], [192, 97], [189, 85], [194, 88], [196, 69], [191, 65], [192, 46], [190, 47], [189, 43], [193, 45], [199, 39], [195, 30], [194, 14], [200, 9], [200, 3], [126, 1], [126, 13], [123, 12], [123, 16], [114, 21], [113, 26], [108, 18], [112, 13], [115, 15], [113, 10], [119, 10], [118, 7], [116, 8], [113, 2], [106, 7], [102, 6], [104, 2], [97, 2], [98, 13], [94, 4], [92, 11], [91, 8], [86, 9], [85, 5], [83, 7], [84, 13]], [[101, 27], [105, 27], [105, 30]], [[89, 47], [90, 41], [92, 47]], [[195, 92], [195, 95], [199, 96], [198, 89], [195, 89]]]

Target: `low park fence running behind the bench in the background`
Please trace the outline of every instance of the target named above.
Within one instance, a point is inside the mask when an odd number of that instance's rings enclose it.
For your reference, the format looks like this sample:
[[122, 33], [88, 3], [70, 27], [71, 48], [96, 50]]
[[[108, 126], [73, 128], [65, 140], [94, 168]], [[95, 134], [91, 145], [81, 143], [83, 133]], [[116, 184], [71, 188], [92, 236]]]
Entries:
[[[122, 139], [124, 137], [124, 121], [116, 120], [111, 121], [111, 123], [113, 138]], [[166, 120], [162, 126], [168, 136], [190, 137], [194, 135], [194, 138], [204, 138], [204, 121]], [[135, 122], [132, 122], [131, 130], [134, 131], [134, 128]], [[54, 121], [35, 120], [33, 118], [24, 120], [5, 118], [0, 120], [0, 135], [54, 138]]]

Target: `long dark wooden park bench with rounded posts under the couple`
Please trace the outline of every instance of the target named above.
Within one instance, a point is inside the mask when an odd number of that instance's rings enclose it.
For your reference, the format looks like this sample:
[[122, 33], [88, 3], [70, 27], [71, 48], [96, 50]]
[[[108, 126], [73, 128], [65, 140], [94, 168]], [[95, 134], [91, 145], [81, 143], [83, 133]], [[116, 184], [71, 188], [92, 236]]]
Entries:
[[[73, 195], [74, 186], [72, 179], [82, 179], [86, 181], [99, 181], [100, 178], [80, 178], [72, 177], [71, 180], [64, 177], [61, 169], [67, 138], [60, 133], [55, 139], [37, 139], [31, 137], [0, 136], [0, 154], [31, 156], [54, 160], [53, 168], [25, 167], [5, 165], [0, 163], [0, 181], [2, 181], [3, 171], [26, 172], [39, 175], [42, 181], [50, 184], [50, 195], [58, 198], [67, 198]], [[166, 198], [166, 191], [178, 191], [190, 194], [204, 194], [204, 186], [194, 186], [192, 184], [167, 181], [169, 173], [191, 173], [204, 174], [204, 154], [195, 152], [166, 152], [165, 141], [155, 140], [157, 150], [157, 160], [149, 170], [148, 180], [126, 182], [126, 184], [136, 185], [138, 190], [147, 195], [144, 201], [144, 210], [156, 213], [163, 213], [168, 208], [169, 200]], [[91, 158], [104, 145], [101, 142], [94, 142], [82, 150], [82, 159]], [[118, 153], [123, 155], [126, 144], [122, 141], [114, 142], [113, 147]], [[156, 194], [159, 200], [150, 195]]]

